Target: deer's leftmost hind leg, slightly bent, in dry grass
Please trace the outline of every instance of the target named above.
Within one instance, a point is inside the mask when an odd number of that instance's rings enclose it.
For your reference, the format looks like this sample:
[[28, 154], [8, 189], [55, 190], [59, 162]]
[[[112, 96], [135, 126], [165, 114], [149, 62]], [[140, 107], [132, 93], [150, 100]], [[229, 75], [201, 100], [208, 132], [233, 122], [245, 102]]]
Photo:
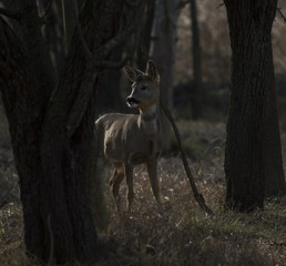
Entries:
[[110, 188], [112, 191], [112, 195], [116, 205], [118, 211], [120, 212], [120, 196], [119, 196], [119, 190], [120, 190], [120, 183], [124, 178], [124, 168], [123, 164], [114, 164], [114, 171], [113, 175], [110, 178]]

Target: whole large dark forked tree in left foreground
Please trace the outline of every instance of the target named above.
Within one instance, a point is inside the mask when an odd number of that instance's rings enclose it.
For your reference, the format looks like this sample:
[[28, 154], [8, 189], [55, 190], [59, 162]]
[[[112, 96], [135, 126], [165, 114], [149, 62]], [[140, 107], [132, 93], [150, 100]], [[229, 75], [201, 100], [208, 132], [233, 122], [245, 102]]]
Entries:
[[[86, 0], [79, 20], [74, 17], [76, 25], [55, 82], [37, 2], [4, 3], [1, 12], [13, 18], [13, 30], [1, 19], [0, 82], [20, 177], [27, 249], [50, 263], [95, 260], [86, 183], [96, 180], [90, 170], [96, 91], [102, 70], [127, 60], [106, 61], [139, 20], [120, 29], [123, 0]], [[140, 7], [132, 10], [137, 18]]]

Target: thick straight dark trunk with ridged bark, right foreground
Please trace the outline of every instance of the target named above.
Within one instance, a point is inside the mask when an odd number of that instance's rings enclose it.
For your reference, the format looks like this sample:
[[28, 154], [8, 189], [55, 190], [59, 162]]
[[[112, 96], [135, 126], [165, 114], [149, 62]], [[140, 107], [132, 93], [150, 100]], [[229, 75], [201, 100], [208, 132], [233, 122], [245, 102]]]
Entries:
[[225, 6], [232, 44], [225, 203], [249, 212], [263, 208], [265, 196], [266, 112], [274, 90], [270, 30], [277, 0], [225, 0]]

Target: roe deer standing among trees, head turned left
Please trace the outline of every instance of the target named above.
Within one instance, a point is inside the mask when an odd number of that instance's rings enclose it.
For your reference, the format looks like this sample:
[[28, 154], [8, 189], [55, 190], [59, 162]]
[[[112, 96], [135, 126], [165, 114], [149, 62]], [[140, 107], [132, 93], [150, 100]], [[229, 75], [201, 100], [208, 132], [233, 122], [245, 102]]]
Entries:
[[161, 153], [160, 120], [160, 76], [152, 61], [147, 62], [146, 72], [125, 66], [129, 79], [133, 82], [132, 92], [126, 99], [130, 108], [139, 109], [139, 114], [109, 113], [95, 122], [100, 149], [105, 162], [114, 165], [110, 178], [118, 211], [120, 212], [119, 188], [126, 177], [127, 211], [134, 198], [133, 167], [145, 163], [153, 194], [160, 208], [160, 190], [157, 180], [157, 157]]

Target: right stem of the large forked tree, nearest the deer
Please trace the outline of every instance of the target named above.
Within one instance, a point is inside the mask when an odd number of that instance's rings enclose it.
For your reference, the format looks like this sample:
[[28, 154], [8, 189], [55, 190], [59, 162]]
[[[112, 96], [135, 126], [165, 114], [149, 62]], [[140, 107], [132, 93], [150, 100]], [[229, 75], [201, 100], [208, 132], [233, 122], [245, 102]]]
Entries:
[[[122, 1], [88, 1], [80, 18], [86, 44], [99, 61], [105, 60], [105, 54], [96, 54], [96, 50], [114, 35], [114, 21], [119, 21], [121, 6]], [[45, 215], [53, 209], [54, 243], [64, 247], [68, 258], [76, 253], [76, 257], [92, 258], [96, 249], [86, 183], [95, 116], [94, 89], [99, 86], [101, 70], [84, 58], [85, 50], [75, 33], [42, 131], [42, 167], [45, 198], [50, 204]], [[60, 223], [64, 216], [70, 223]], [[70, 243], [74, 243], [76, 249]], [[64, 256], [63, 252], [58, 255]]]

